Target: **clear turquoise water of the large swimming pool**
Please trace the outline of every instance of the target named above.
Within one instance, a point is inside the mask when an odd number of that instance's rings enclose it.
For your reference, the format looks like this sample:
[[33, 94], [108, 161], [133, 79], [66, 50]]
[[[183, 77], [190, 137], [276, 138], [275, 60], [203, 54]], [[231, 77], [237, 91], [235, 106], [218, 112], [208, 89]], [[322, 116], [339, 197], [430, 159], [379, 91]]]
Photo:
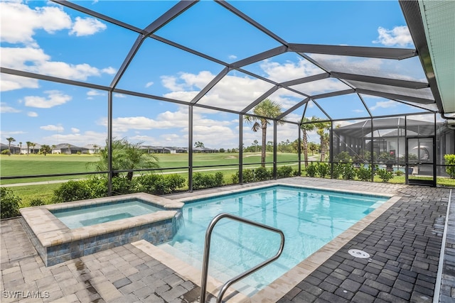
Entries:
[[[294, 268], [316, 250], [353, 226], [388, 197], [274, 186], [191, 202], [183, 206], [185, 225], [161, 249], [202, 268], [205, 231], [214, 216], [226, 212], [281, 229], [282, 256], [250, 277], [237, 290], [254, 294]], [[222, 219], [210, 246], [209, 275], [225, 282], [272, 257], [276, 233]]]

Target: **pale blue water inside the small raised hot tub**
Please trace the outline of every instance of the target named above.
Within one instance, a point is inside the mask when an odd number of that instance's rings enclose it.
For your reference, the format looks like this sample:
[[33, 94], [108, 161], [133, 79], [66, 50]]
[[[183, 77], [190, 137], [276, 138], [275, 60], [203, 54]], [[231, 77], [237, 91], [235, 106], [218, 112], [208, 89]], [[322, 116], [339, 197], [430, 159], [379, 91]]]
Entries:
[[58, 209], [51, 212], [69, 228], [79, 228], [150, 214], [159, 210], [162, 209], [139, 199], [134, 199], [70, 209]]

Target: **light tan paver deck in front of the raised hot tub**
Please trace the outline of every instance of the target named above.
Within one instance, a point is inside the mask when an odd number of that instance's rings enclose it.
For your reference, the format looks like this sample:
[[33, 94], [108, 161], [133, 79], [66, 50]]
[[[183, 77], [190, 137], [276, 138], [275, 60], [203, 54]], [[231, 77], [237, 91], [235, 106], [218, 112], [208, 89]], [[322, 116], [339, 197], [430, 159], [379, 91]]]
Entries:
[[131, 244], [46, 268], [20, 220], [1, 221], [2, 303], [185, 303], [194, 302], [199, 292], [193, 282]]

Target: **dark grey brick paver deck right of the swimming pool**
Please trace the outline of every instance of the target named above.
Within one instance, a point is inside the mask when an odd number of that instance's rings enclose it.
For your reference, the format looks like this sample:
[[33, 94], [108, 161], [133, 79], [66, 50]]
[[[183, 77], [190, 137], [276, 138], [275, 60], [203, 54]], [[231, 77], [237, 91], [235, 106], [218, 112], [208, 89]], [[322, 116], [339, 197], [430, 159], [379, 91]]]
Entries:
[[[433, 302], [449, 189], [402, 186], [391, 192], [402, 199], [279, 302]], [[353, 248], [370, 258], [353, 257]], [[452, 255], [444, 269], [440, 302], [455, 302], [453, 261]]]

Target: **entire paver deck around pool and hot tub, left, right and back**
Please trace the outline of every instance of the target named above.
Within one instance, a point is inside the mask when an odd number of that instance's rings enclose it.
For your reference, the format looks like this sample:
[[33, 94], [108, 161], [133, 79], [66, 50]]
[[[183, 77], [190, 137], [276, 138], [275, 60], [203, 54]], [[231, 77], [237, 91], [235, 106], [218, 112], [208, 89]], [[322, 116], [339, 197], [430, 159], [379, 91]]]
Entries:
[[[293, 182], [399, 194], [402, 199], [279, 302], [432, 302], [449, 189], [316, 178], [293, 178]], [[440, 302], [455, 302], [453, 192]], [[370, 258], [354, 258], [348, 254], [351, 248], [365, 250]], [[200, 290], [131, 244], [46, 268], [19, 219], [1, 221], [0, 256], [1, 302], [180, 303], [195, 302]], [[41, 298], [31, 299], [33, 294]]]

